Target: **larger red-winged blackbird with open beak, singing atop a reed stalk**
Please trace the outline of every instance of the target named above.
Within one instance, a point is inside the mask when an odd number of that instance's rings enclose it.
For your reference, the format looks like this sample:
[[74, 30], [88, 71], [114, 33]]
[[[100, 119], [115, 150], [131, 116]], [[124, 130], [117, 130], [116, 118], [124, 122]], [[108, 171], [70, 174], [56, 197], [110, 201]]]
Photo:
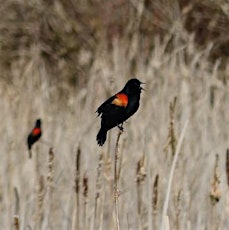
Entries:
[[115, 126], [119, 129], [130, 116], [132, 116], [139, 107], [139, 100], [142, 82], [138, 79], [129, 80], [124, 88], [114, 96], [106, 100], [96, 112], [101, 116], [101, 128], [97, 134], [97, 143], [102, 146], [107, 137], [107, 131]]

